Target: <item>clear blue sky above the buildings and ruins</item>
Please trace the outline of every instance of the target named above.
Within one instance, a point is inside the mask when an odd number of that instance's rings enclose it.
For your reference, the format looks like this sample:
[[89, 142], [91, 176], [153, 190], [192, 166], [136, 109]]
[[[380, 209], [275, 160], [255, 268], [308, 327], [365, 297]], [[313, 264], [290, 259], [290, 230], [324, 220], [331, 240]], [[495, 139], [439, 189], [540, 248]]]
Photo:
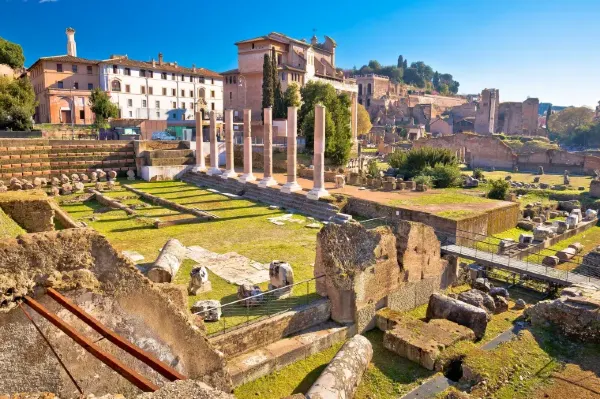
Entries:
[[402, 54], [453, 74], [461, 93], [600, 100], [600, 0], [0, 0], [0, 18], [0, 36], [23, 46], [26, 65], [64, 54], [68, 26], [80, 57], [163, 52], [218, 72], [236, 67], [237, 40], [271, 31], [310, 39], [316, 29], [337, 41], [341, 67], [395, 64]]

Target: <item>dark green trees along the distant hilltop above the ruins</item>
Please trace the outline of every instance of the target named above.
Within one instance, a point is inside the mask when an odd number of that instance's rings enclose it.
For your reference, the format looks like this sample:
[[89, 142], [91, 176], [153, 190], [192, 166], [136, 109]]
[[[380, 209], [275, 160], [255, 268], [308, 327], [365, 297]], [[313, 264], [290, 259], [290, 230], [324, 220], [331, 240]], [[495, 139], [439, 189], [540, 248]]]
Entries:
[[396, 65], [381, 65], [377, 60], [371, 60], [360, 69], [354, 67], [347, 70], [346, 73], [349, 76], [374, 73], [387, 76], [395, 83], [405, 83], [426, 91], [436, 91], [442, 95], [456, 94], [460, 86], [460, 83], [454, 80], [451, 74], [434, 71], [423, 61], [412, 62], [409, 65], [408, 60], [402, 55], [398, 56]]

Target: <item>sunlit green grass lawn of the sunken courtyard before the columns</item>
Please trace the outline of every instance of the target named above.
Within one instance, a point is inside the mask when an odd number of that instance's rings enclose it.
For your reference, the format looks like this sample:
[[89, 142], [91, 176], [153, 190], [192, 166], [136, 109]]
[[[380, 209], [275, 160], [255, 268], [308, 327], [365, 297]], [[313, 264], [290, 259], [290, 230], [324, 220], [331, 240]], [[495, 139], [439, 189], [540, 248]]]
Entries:
[[[161, 229], [152, 227], [157, 218], [189, 217], [176, 211], [151, 205], [124, 189], [106, 193], [108, 196], [126, 198], [122, 202], [137, 206], [138, 217], [127, 216], [119, 210], [107, 210], [96, 201], [84, 203], [65, 203], [73, 196], [60, 197], [61, 207], [76, 220], [88, 223], [105, 235], [118, 250], [134, 250], [144, 255], [147, 264], [154, 262], [162, 246], [169, 238], [177, 238], [184, 245], [199, 245], [218, 253], [237, 252], [252, 260], [269, 263], [274, 259], [289, 262], [294, 269], [294, 278], [300, 282], [313, 277], [315, 261], [315, 243], [318, 230], [304, 227], [304, 223], [286, 223], [277, 226], [267, 218], [283, 215], [281, 210], [269, 210], [265, 204], [245, 199], [230, 199], [224, 195], [200, 189], [183, 182], [131, 182], [135, 188], [144, 192], [172, 200], [188, 207], [209, 211], [219, 219]], [[94, 213], [102, 211], [102, 213]], [[94, 220], [90, 217], [94, 216]], [[295, 218], [303, 218], [296, 215]], [[187, 285], [189, 272], [195, 262], [185, 261], [175, 276], [174, 282]], [[198, 299], [219, 299], [222, 303], [236, 300], [237, 287], [210, 274], [212, 291], [200, 296], [190, 296], [189, 303]], [[267, 283], [261, 288], [265, 290]], [[309, 286], [308, 295], [314, 294], [314, 282]], [[306, 289], [294, 291], [298, 301], [305, 301]], [[293, 302], [295, 299], [287, 300]], [[283, 302], [278, 304], [284, 305]], [[253, 313], [251, 313], [252, 315]], [[243, 316], [224, 317], [226, 326], [245, 321]], [[222, 323], [206, 323], [207, 332], [212, 333], [223, 327]]]

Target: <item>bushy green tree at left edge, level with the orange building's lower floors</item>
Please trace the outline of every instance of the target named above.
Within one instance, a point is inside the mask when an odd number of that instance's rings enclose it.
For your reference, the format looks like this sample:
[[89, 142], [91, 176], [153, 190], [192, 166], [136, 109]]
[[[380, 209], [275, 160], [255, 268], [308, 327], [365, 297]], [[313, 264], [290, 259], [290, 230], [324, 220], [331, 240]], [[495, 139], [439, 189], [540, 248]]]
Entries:
[[29, 79], [0, 77], [0, 130], [31, 130], [36, 105]]

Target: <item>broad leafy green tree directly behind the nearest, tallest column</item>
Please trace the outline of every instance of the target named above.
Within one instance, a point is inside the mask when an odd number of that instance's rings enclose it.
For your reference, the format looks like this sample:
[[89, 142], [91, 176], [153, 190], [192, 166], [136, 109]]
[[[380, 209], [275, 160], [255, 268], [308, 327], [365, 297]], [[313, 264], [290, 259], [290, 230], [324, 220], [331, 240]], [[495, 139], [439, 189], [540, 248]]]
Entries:
[[314, 145], [315, 105], [322, 104], [325, 113], [325, 157], [335, 165], [343, 165], [350, 157], [352, 132], [350, 130], [350, 97], [337, 94], [333, 86], [309, 82], [302, 89], [302, 107], [298, 126], [306, 138], [306, 147]]

